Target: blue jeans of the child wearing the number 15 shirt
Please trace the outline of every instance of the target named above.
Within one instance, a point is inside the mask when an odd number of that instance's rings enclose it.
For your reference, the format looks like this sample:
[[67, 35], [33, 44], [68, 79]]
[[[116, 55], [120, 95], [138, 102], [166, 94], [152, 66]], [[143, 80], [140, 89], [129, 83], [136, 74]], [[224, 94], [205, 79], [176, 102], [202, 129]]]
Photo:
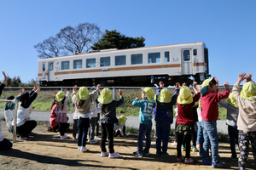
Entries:
[[151, 145], [151, 131], [152, 122], [140, 123], [139, 133], [137, 137], [137, 153], [143, 153], [143, 139], [146, 135], [146, 146], [144, 148], [145, 152], [148, 152]]

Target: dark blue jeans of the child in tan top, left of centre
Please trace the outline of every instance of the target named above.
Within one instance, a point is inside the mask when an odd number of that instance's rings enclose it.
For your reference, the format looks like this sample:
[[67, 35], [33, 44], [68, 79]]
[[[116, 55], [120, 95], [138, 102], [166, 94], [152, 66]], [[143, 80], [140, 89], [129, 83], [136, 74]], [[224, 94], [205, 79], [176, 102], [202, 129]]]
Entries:
[[88, 128], [90, 126], [89, 118], [82, 118], [80, 117], [78, 120], [78, 146], [85, 146], [86, 145], [86, 138]]

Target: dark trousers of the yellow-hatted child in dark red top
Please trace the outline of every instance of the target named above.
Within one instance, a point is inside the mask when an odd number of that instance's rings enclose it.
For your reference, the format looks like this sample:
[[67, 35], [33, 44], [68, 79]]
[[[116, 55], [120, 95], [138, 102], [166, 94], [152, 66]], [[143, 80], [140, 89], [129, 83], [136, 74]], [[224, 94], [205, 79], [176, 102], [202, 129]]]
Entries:
[[177, 157], [181, 157], [181, 145], [183, 143], [186, 145], [186, 158], [190, 158], [190, 141], [191, 141], [191, 134], [183, 135], [181, 133], [177, 133]]

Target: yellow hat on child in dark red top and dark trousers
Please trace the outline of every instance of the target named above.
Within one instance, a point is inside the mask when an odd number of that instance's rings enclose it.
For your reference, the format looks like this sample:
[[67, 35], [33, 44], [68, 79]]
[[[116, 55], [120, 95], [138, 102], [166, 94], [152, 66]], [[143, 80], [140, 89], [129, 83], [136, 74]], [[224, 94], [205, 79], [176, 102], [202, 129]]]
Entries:
[[183, 86], [179, 90], [177, 96], [177, 103], [180, 105], [187, 105], [193, 102], [193, 96], [190, 94], [190, 89], [187, 86]]

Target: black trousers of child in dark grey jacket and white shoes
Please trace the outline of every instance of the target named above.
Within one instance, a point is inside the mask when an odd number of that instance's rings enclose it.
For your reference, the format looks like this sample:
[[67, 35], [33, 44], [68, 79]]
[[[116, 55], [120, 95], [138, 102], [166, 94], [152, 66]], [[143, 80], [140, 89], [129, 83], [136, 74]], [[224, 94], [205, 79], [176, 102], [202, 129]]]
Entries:
[[102, 123], [102, 139], [101, 148], [103, 152], [106, 152], [106, 141], [108, 136], [108, 150], [109, 153], [113, 153], [113, 124]]

